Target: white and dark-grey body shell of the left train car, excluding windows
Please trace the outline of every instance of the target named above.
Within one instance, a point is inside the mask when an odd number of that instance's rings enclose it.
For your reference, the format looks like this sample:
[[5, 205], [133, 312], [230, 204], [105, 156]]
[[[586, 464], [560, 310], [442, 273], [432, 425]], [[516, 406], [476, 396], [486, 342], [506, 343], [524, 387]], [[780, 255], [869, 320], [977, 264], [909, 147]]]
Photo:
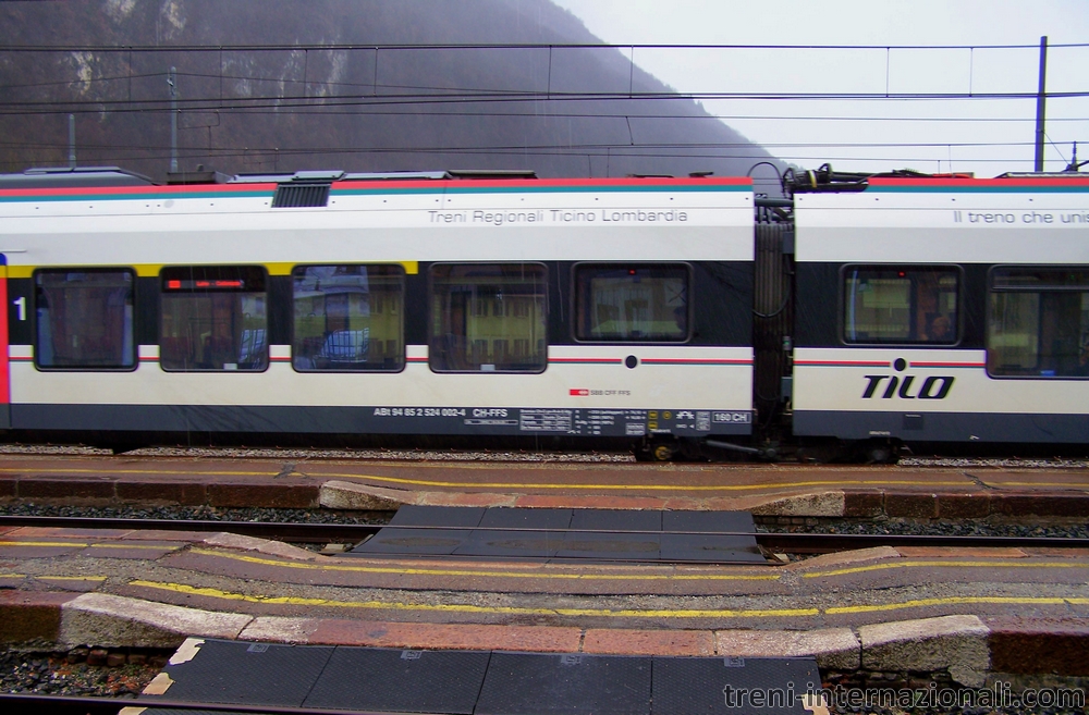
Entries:
[[[4, 331], [5, 426], [628, 437], [750, 432], [752, 348], [746, 331], [752, 193], [747, 180], [350, 177], [327, 186], [323, 206], [299, 208], [273, 207], [278, 185], [269, 182], [0, 190], [10, 323]], [[299, 369], [292, 336], [306, 317], [291, 305], [292, 271], [297, 276], [305, 267], [357, 266], [401, 267], [399, 368], [369, 370], [360, 361], [348, 369]], [[547, 330], [543, 361], [497, 369], [484, 358], [472, 368], [436, 370], [429, 325], [437, 318], [429, 295], [433, 276], [446, 270], [436, 266], [531, 267], [527, 270], [535, 276], [543, 276], [547, 285], [535, 294], [547, 305], [547, 316], [540, 317]], [[573, 271], [598, 266], [614, 272], [631, 267], [633, 275], [654, 267], [677, 275], [686, 271], [687, 293], [676, 298], [688, 311], [677, 318], [678, 324], [685, 322], [683, 335], [653, 340], [635, 331], [634, 340], [576, 340], [565, 317], [578, 309], [571, 296]], [[264, 292], [253, 294], [260, 297], [248, 305], [267, 310], [267, 324], [234, 329], [235, 340], [241, 335], [254, 350], [267, 350], [257, 369], [241, 369], [238, 360], [212, 369], [161, 363], [163, 295], [171, 282], [179, 283], [164, 276], [194, 267], [197, 276], [216, 267], [264, 270]], [[76, 276], [77, 283], [82, 271], [103, 270], [100, 275], [124, 278], [130, 271], [134, 276], [133, 324], [124, 330], [133, 335], [137, 359], [129, 365], [122, 357], [98, 369], [44, 358], [42, 349], [53, 352], [53, 335], [42, 325], [59, 320], [59, 308], [49, 313], [42, 303], [53, 295], [49, 291], [63, 286], [44, 288], [36, 276], [46, 276], [46, 283]], [[708, 293], [707, 276], [720, 274], [726, 283], [736, 278], [729, 296]], [[675, 280], [682, 283], [683, 275]], [[298, 285], [295, 300], [301, 299]], [[76, 288], [69, 289], [65, 300], [74, 300]], [[498, 297], [489, 295], [490, 303], [481, 299], [484, 307], [474, 310], [486, 316], [488, 305], [500, 310], [501, 289]], [[700, 297], [706, 306], [697, 309]], [[734, 316], [731, 330], [700, 324], [714, 322], [713, 313], [725, 308]], [[365, 307], [363, 318], [372, 309]], [[245, 320], [252, 319], [247, 313]], [[61, 328], [72, 341], [79, 340], [78, 330]], [[380, 349], [372, 337], [358, 338], [366, 330], [333, 332], [369, 341], [371, 353]], [[332, 340], [314, 340], [320, 338]], [[204, 336], [206, 343], [213, 340]], [[490, 337], [482, 342], [491, 350]], [[502, 341], [504, 353], [509, 347]], [[390, 360], [387, 366], [395, 362]]]

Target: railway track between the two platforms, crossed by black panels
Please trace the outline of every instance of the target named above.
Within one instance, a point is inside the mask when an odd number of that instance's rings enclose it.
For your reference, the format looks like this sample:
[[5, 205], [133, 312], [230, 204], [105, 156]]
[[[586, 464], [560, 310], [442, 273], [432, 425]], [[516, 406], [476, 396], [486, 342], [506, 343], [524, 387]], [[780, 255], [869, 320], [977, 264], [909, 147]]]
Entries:
[[[42, 527], [62, 529], [133, 529], [166, 531], [225, 531], [246, 537], [296, 543], [355, 543], [374, 535], [382, 525], [292, 523], [269, 521], [219, 521], [178, 519], [124, 519], [99, 517], [0, 516], [2, 527]], [[465, 527], [470, 529], [476, 527]], [[399, 526], [397, 529], [427, 532], [432, 527]], [[451, 529], [451, 527], [443, 527]], [[509, 528], [511, 532], [558, 533], [556, 529]], [[708, 531], [605, 531], [579, 529], [582, 533], [694, 534], [721, 537], [755, 535], [768, 552], [827, 554], [876, 546], [932, 546], [949, 548], [1089, 548], [1089, 539], [1062, 537], [994, 537], [943, 534], [830, 534], [808, 532], [708, 532]]]

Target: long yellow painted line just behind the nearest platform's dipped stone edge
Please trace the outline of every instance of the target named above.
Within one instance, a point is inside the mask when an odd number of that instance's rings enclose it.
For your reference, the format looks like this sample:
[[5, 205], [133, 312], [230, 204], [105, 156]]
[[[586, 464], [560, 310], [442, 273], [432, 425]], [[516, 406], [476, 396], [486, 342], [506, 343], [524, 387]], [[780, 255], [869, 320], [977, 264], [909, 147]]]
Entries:
[[224, 601], [242, 601], [291, 606], [326, 606], [333, 608], [370, 608], [379, 611], [413, 611], [433, 613], [497, 614], [515, 616], [600, 616], [607, 618], [774, 618], [792, 616], [816, 616], [817, 608], [771, 608], [771, 609], [671, 609], [671, 608], [530, 608], [524, 606], [474, 606], [454, 603], [403, 603], [400, 601], [333, 601], [330, 599], [303, 599], [298, 596], [259, 596], [233, 593], [219, 589], [196, 588], [184, 583], [162, 583], [158, 581], [133, 580], [129, 585], [171, 591], [185, 595], [198, 595]]

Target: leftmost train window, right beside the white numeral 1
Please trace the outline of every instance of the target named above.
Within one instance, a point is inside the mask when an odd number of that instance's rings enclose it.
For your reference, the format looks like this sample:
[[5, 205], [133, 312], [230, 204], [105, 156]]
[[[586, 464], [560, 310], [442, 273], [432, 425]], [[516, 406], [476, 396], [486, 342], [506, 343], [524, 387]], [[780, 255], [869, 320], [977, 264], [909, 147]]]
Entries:
[[42, 270], [35, 272], [34, 283], [37, 367], [136, 367], [132, 271]]

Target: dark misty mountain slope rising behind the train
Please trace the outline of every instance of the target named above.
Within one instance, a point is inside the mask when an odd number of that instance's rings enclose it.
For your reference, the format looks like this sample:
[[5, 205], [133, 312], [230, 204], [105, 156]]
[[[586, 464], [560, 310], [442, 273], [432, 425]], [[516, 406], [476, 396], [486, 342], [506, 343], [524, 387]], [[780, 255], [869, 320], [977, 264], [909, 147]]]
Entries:
[[[690, 100], [626, 98], [672, 90], [614, 49], [389, 48], [600, 44], [548, 0], [5, 2], [0, 26], [24, 46], [144, 48], [0, 52], [7, 171], [66, 163], [72, 111], [81, 164], [161, 178], [171, 66], [181, 169], [744, 174], [769, 158]], [[294, 49], [317, 45], [354, 47]]]

